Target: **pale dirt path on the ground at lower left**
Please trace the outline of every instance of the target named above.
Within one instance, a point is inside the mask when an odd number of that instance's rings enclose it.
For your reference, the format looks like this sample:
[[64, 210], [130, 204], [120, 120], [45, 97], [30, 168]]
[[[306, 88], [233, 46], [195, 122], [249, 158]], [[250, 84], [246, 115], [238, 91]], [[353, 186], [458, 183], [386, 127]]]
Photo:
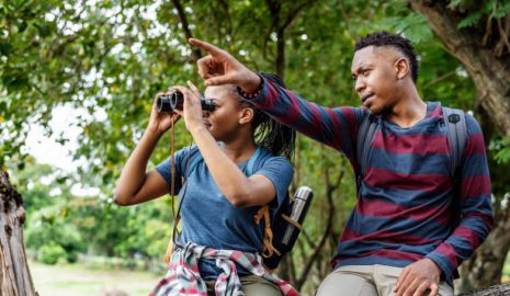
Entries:
[[[30, 262], [39, 296], [138, 296], [148, 295], [159, 277], [151, 273], [92, 270], [80, 265], [45, 265]], [[122, 291], [125, 294], [107, 294]]]

